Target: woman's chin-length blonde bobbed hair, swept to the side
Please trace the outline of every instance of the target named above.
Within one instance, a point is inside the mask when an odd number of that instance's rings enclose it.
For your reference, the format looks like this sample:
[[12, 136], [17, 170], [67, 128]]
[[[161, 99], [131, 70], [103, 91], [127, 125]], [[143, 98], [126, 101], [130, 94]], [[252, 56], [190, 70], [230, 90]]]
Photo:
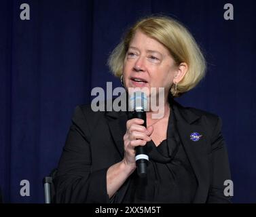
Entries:
[[[170, 52], [177, 66], [181, 62], [187, 63], [187, 73], [177, 84], [175, 97], [181, 96], [194, 88], [204, 77], [206, 62], [194, 37], [183, 24], [167, 16], [143, 18], [128, 30], [122, 41], [109, 56], [108, 65], [113, 75], [121, 77], [126, 52], [130, 41], [138, 30], [162, 43]], [[175, 85], [172, 85], [170, 92], [172, 95], [174, 94]]]

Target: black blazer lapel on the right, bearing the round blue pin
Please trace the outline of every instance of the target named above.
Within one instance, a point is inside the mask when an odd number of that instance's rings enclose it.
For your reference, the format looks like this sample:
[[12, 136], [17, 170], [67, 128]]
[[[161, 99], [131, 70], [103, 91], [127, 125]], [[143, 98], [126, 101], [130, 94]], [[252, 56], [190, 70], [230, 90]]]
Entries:
[[[187, 157], [191, 163], [196, 178], [198, 180], [198, 189], [194, 197], [194, 203], [205, 203], [208, 195], [209, 186], [209, 167], [207, 146], [208, 139], [206, 138], [206, 130], [202, 125], [195, 123], [200, 119], [198, 115], [185, 109], [179, 103], [173, 100], [172, 108], [177, 119], [177, 130], [181, 138], [181, 143], [184, 146]], [[198, 141], [190, 139], [193, 132], [198, 132], [202, 137]]]

